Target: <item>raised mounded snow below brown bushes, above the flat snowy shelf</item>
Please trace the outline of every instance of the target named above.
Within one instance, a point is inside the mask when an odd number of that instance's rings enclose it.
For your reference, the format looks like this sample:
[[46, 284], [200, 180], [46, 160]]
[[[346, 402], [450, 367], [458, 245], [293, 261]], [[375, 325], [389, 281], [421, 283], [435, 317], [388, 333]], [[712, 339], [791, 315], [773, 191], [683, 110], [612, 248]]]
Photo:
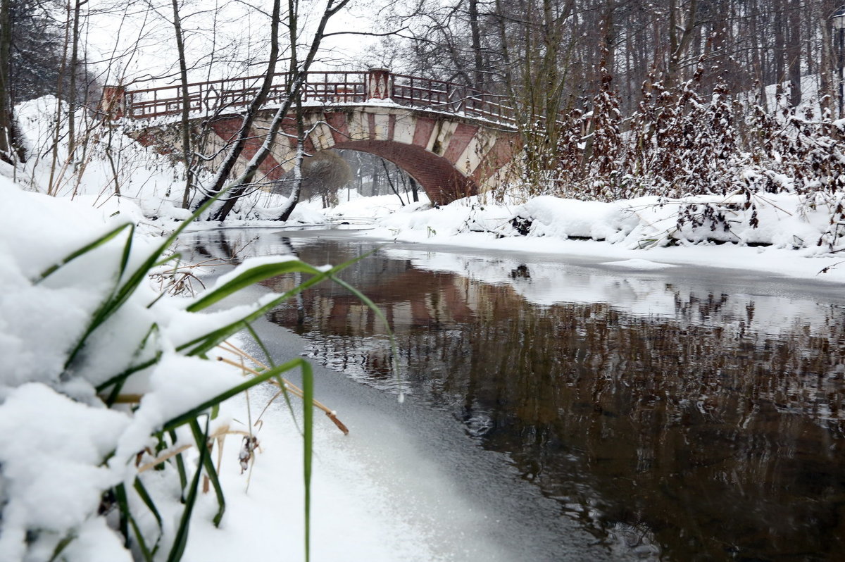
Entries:
[[[643, 197], [602, 203], [541, 196], [524, 205], [484, 205], [473, 197], [439, 209], [404, 208], [378, 221], [379, 235], [444, 242], [469, 232], [492, 237], [586, 238], [624, 248], [687, 243], [765, 244], [810, 248], [828, 232], [831, 206], [796, 194], [684, 199]], [[717, 216], [711, 216], [711, 211]], [[819, 253], [845, 248], [845, 232]], [[463, 237], [466, 241], [469, 237]]]

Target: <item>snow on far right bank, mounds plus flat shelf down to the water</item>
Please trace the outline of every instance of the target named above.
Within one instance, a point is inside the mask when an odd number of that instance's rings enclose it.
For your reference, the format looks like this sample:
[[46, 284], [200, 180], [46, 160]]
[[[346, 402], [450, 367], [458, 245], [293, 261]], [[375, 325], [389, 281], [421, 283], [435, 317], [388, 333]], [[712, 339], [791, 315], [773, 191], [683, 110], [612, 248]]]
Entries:
[[[706, 265], [845, 281], [845, 265], [820, 274], [845, 260], [838, 254], [845, 248], [842, 237], [833, 248], [817, 244], [829, 226], [831, 204], [820, 201], [810, 206], [796, 194], [756, 196], [760, 224], [754, 227], [750, 224], [752, 209], [742, 209], [742, 201], [735, 197], [696, 196], [600, 203], [537, 197], [523, 205], [492, 205], [470, 198], [439, 209], [401, 210], [377, 220], [372, 230], [360, 232], [359, 236], [582, 256], [600, 261], [627, 260], [628, 265], [639, 269]], [[708, 225], [677, 227], [679, 210], [704, 204], [726, 210], [728, 231], [713, 231]], [[524, 236], [514, 226], [515, 221], [522, 221], [526, 227]]]

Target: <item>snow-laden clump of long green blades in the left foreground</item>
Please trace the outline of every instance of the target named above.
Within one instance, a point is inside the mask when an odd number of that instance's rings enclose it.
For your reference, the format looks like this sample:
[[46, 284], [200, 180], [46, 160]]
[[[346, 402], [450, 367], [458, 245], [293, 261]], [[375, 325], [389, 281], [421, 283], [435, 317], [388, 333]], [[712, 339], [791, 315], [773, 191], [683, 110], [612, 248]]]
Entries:
[[[338, 268], [248, 259], [199, 297], [176, 299], [148, 275], [179, 259], [168, 248], [187, 222], [153, 242], [131, 222], [2, 176], [0, 197], [0, 559], [179, 559], [201, 481], [214, 489], [215, 523], [225, 509], [210, 456], [211, 437], [226, 431], [221, 402], [293, 368], [311, 401], [301, 358], [244, 380], [210, 353]], [[208, 312], [286, 272], [310, 277]], [[309, 439], [307, 429], [306, 458]]]

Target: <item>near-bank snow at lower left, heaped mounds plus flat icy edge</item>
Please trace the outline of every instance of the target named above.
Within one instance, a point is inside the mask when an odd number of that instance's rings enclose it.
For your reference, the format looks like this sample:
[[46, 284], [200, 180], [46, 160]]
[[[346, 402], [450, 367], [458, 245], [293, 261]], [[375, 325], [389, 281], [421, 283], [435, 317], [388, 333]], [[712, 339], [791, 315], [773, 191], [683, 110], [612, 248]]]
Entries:
[[[0, 177], [0, 197], [8, 210], [0, 223], [0, 559], [46, 560], [57, 548], [63, 548], [68, 561], [139, 559], [137, 542], [131, 554], [123, 548], [116, 532], [117, 508], [102, 494], [124, 483], [141, 532], [150, 540], [158, 536], [154, 516], [132, 495], [134, 477], [153, 457], [144, 453], [146, 447], [155, 448], [150, 435], [174, 414], [241, 380], [237, 368], [184, 357], [175, 348], [221, 318], [266, 301], [268, 290], [254, 287], [227, 300], [227, 308], [199, 315], [185, 310], [188, 298], [156, 301], [154, 287], [144, 282], [103, 330], [95, 330], [82, 358], [68, 369], [68, 349], [116, 281], [125, 238], [79, 255], [43, 281], [41, 276], [74, 249], [122, 221], [144, 221], [143, 215], [126, 203], [115, 215], [114, 208], [92, 207], [84, 197], [71, 201], [28, 193], [6, 177]], [[135, 240], [128, 270], [160, 241], [154, 234], [150, 230]], [[215, 282], [220, 285], [227, 278], [231, 275]], [[139, 357], [135, 343], [144, 340], [151, 324], [159, 326], [161, 362], [139, 371], [139, 379], [130, 379], [122, 390], [144, 397], [134, 409], [103, 407], [95, 388]], [[287, 357], [299, 352], [286, 351]], [[258, 388], [248, 401], [242, 394], [226, 402], [210, 431], [248, 431], [248, 420], [258, 416], [272, 392]], [[485, 508], [462, 495], [455, 474], [428, 458], [430, 445], [419, 443], [418, 436], [390, 417], [368, 412], [366, 403], [346, 406], [338, 413], [352, 427], [351, 435], [342, 435], [322, 416], [314, 427], [313, 560], [518, 559], [513, 545], [503, 541], [504, 526], [510, 530], [519, 525], [510, 511]], [[301, 424], [301, 406], [295, 403], [293, 410], [273, 407], [254, 429], [260, 452], [251, 475], [241, 470], [241, 437], [226, 439], [220, 465], [226, 516], [215, 528], [215, 494], [201, 494], [183, 559], [303, 559], [303, 446], [294, 422], [295, 417]], [[455, 439], [448, 437], [450, 430], [462, 439], [460, 428], [445, 427], [435, 436], [441, 446], [444, 439]], [[185, 435], [179, 439], [190, 442]], [[194, 450], [186, 454], [197, 459]], [[482, 462], [489, 459], [474, 462], [473, 470], [483, 470]], [[189, 467], [188, 476], [190, 472]], [[142, 479], [162, 520], [159, 559], [168, 551], [181, 516], [178, 479], [172, 467], [146, 471]], [[536, 491], [512, 494], [542, 503], [534, 497]], [[519, 512], [513, 506], [510, 510]], [[548, 521], [556, 519], [550, 516]], [[590, 543], [574, 528], [567, 535]]]

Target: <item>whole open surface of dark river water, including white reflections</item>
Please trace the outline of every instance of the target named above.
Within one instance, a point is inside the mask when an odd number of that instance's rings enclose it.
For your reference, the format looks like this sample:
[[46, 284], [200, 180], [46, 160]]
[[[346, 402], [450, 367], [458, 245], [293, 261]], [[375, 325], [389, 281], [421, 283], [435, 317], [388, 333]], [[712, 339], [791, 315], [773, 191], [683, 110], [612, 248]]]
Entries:
[[[199, 254], [338, 264], [351, 234], [221, 231]], [[642, 258], [647, 258], [643, 254]], [[384, 243], [270, 314], [308, 354], [463, 424], [627, 559], [845, 559], [845, 288]], [[281, 292], [292, 278], [267, 281]]]

